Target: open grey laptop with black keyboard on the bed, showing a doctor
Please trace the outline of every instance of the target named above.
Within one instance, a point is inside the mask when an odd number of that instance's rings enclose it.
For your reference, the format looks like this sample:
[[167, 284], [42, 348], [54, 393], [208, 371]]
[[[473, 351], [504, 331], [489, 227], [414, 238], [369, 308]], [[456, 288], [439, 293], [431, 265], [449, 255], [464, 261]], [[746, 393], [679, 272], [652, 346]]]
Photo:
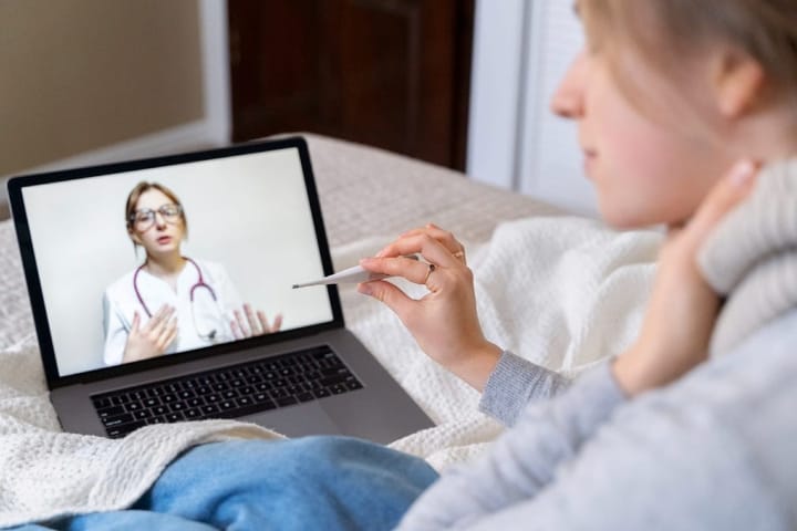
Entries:
[[[238, 418], [390, 442], [433, 426], [346, 330], [303, 138], [8, 183], [65, 431]], [[172, 269], [169, 269], [172, 268]]]

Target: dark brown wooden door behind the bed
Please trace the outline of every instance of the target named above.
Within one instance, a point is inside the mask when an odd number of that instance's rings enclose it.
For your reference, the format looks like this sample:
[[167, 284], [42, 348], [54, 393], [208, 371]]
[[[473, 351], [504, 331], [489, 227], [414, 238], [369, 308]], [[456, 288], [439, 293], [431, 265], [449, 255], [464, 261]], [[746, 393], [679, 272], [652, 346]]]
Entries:
[[474, 0], [228, 0], [232, 137], [465, 165]]

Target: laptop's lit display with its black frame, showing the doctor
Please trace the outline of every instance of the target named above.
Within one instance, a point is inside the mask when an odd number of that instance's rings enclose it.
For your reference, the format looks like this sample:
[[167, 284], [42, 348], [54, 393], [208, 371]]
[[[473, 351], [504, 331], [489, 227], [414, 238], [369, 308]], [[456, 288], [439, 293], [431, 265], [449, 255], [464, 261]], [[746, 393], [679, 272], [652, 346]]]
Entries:
[[13, 179], [48, 377], [333, 322], [334, 289], [292, 289], [331, 272], [306, 149], [289, 139]]

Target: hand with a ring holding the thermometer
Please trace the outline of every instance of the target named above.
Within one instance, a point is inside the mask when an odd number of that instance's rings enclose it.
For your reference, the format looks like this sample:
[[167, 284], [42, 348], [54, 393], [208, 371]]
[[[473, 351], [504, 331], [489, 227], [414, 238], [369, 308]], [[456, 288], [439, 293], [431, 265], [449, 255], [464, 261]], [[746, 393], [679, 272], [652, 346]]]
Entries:
[[[403, 258], [414, 253], [421, 253], [428, 263]], [[358, 290], [393, 310], [429, 357], [476, 389], [484, 389], [501, 350], [482, 333], [473, 273], [465, 264], [462, 243], [429, 223], [403, 233], [360, 264], [374, 273], [426, 285], [429, 293], [418, 300], [385, 281], [364, 282]]]

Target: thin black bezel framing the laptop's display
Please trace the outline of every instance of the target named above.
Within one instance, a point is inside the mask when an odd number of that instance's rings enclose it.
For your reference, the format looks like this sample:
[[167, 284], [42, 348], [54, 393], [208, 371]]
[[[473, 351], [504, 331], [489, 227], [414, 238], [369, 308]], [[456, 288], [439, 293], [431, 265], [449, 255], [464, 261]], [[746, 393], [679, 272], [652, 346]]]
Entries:
[[330, 308], [332, 310], [331, 321], [308, 326], [300, 326], [298, 329], [291, 329], [273, 334], [266, 334], [245, 340], [232, 341], [229, 343], [221, 343], [203, 348], [185, 351], [170, 354], [168, 356], [158, 356], [151, 360], [125, 363], [123, 365], [116, 365], [113, 367], [101, 367], [93, 371], [69, 374], [65, 376], [62, 376], [58, 369], [58, 361], [53, 348], [50, 323], [46, 316], [43, 291], [39, 281], [35, 253], [33, 252], [33, 242], [30, 233], [28, 214], [25, 211], [25, 206], [23, 201], [22, 190], [25, 187], [82, 179], [86, 177], [100, 177], [104, 175], [135, 171], [141, 169], [158, 168], [164, 166], [175, 166], [186, 163], [196, 163], [201, 160], [234, 157], [237, 155], [249, 155], [255, 153], [286, 148], [297, 148], [299, 152], [302, 174], [304, 176], [304, 188], [307, 191], [310, 211], [312, 214], [313, 228], [315, 230], [315, 237], [319, 247], [319, 254], [321, 257], [321, 263], [323, 267], [323, 272], [324, 274], [331, 274], [333, 272], [332, 258], [330, 254], [330, 249], [327, 240], [327, 231], [324, 229], [323, 218], [321, 215], [321, 205], [315, 187], [315, 179], [312, 171], [312, 165], [310, 163], [310, 155], [307, 142], [300, 136], [280, 139], [256, 140], [229, 147], [184, 153], [178, 155], [168, 155], [99, 166], [70, 168], [41, 174], [22, 175], [12, 177], [8, 181], [9, 205], [11, 208], [11, 215], [13, 217], [14, 229], [17, 231], [17, 240], [19, 242], [25, 283], [28, 284], [28, 294], [31, 301], [31, 311], [33, 314], [33, 322], [35, 324], [37, 339], [39, 341], [39, 348], [41, 351], [44, 375], [46, 377], [49, 388], [53, 389], [56, 387], [63, 387], [65, 385], [90, 383], [115, 376], [135, 374], [157, 367], [184, 363], [186, 361], [195, 361], [208, 356], [218, 356], [232, 352], [239, 352], [245, 348], [251, 348], [260, 345], [269, 345], [291, 339], [303, 337], [310, 334], [323, 332], [327, 330], [340, 329], [344, 326], [340, 294], [338, 293], [338, 288], [332, 284], [327, 287]]

